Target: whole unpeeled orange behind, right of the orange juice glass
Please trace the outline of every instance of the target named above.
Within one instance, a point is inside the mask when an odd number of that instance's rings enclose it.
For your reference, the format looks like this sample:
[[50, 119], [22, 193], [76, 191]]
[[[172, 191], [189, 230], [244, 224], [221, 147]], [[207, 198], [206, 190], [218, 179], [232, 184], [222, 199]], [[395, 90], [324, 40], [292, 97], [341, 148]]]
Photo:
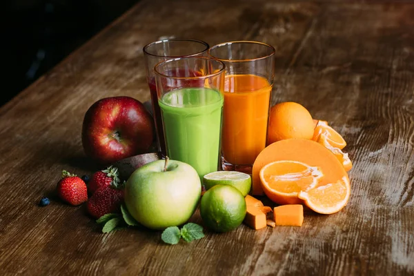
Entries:
[[277, 103], [270, 108], [268, 144], [290, 138], [312, 139], [315, 126], [311, 113], [299, 103]]

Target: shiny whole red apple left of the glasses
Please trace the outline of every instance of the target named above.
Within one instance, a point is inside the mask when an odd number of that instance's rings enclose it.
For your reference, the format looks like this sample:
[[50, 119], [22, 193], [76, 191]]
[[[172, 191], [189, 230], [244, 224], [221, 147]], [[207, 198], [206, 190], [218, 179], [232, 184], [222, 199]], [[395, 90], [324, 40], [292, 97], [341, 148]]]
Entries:
[[147, 152], [152, 144], [153, 124], [151, 115], [136, 99], [100, 99], [83, 118], [83, 149], [101, 164], [139, 155]]

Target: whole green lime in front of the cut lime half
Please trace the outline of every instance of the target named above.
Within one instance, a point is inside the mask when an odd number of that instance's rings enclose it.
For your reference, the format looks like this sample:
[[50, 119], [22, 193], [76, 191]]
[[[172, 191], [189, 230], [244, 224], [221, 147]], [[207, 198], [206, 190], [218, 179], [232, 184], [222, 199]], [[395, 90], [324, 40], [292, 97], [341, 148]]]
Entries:
[[208, 228], [228, 232], [242, 224], [246, 216], [246, 201], [237, 188], [216, 185], [201, 198], [200, 215]]

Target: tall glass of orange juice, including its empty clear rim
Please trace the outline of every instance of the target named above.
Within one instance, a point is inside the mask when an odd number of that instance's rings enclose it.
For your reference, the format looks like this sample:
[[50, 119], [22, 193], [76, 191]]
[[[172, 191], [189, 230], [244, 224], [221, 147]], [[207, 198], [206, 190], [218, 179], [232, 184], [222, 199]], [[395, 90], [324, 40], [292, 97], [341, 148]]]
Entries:
[[266, 147], [275, 48], [233, 41], [213, 46], [208, 56], [226, 65], [221, 168], [251, 173]]

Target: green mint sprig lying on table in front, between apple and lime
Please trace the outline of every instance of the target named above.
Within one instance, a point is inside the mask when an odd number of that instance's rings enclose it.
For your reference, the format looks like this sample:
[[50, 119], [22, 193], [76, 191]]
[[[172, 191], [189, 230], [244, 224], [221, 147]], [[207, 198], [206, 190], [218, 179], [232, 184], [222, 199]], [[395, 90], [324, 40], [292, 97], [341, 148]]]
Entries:
[[178, 244], [181, 238], [186, 242], [193, 242], [195, 239], [204, 237], [203, 227], [189, 222], [181, 230], [177, 226], [170, 226], [161, 234], [161, 239], [166, 244]]

